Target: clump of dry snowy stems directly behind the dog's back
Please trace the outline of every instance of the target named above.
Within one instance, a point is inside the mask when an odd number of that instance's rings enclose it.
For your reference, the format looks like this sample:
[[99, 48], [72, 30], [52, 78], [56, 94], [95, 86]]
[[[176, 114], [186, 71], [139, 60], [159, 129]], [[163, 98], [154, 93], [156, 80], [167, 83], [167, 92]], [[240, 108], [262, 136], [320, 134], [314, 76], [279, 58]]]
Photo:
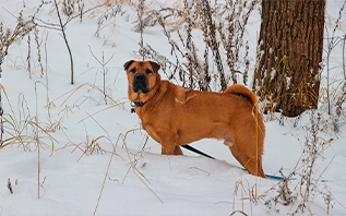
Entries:
[[[220, 3], [207, 0], [183, 0], [181, 11], [175, 9], [146, 11], [143, 14], [143, 28], [153, 26], [155, 23], [163, 27], [164, 35], [171, 47], [170, 56], [175, 57], [176, 63], [170, 62], [164, 55], [159, 55], [150, 45], [144, 47], [145, 58], [159, 62], [169, 80], [180, 79], [182, 86], [189, 88], [223, 91], [229, 84], [237, 82], [238, 74], [242, 73], [239, 68], [243, 65], [242, 76], [243, 82], [247, 83], [251, 62], [248, 56], [250, 47], [242, 40], [242, 35], [249, 16], [259, 2], [259, 0], [251, 2], [237, 0]], [[171, 16], [181, 22], [178, 22], [178, 26], [170, 28], [169, 32], [167, 17]], [[136, 21], [136, 32], [141, 31], [140, 22], [140, 20]], [[179, 28], [184, 31], [184, 34], [180, 34]], [[201, 31], [203, 34], [204, 51], [200, 51], [201, 47], [195, 46], [192, 34], [195, 31]], [[170, 34], [178, 34], [179, 39], [174, 40]], [[139, 52], [143, 56], [143, 49]], [[202, 56], [200, 53], [203, 57], [200, 57]], [[223, 58], [222, 53], [226, 53], [226, 57]], [[172, 70], [166, 70], [166, 67]]]

